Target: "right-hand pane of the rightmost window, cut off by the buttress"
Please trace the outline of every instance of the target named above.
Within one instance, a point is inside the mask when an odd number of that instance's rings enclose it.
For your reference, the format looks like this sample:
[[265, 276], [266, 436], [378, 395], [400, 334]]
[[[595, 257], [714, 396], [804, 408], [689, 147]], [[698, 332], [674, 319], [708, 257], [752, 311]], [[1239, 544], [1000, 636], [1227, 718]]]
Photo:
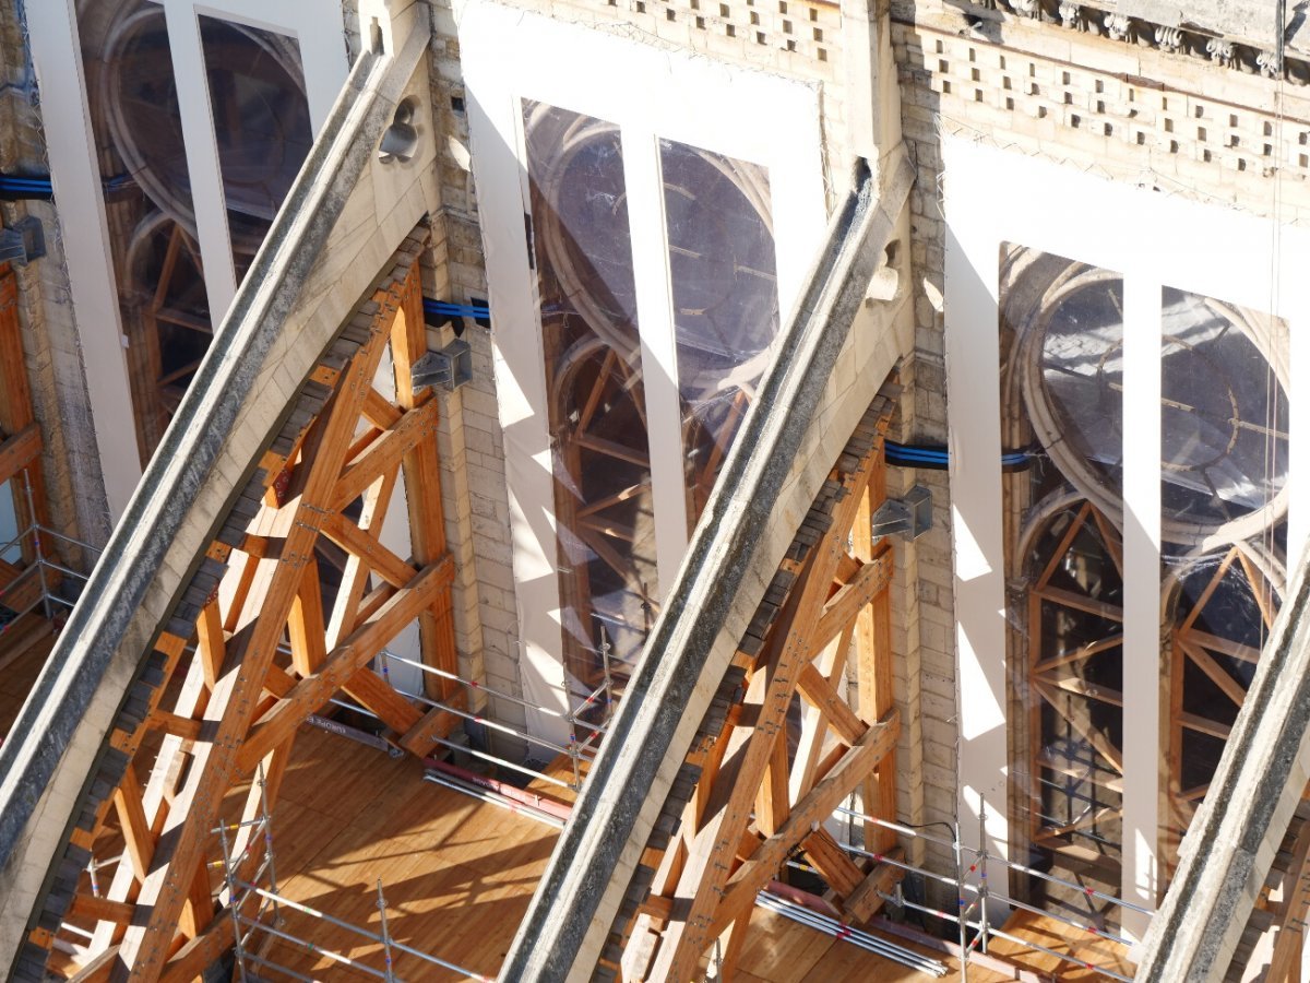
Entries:
[[1166, 873], [1205, 797], [1284, 590], [1286, 379], [1282, 321], [1165, 288]]

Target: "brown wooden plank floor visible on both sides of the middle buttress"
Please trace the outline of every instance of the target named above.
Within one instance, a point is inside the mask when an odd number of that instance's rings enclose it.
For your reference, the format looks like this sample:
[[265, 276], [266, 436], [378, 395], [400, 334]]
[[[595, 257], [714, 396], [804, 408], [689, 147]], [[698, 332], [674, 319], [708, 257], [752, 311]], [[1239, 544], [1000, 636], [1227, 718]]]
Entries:
[[[558, 834], [424, 782], [422, 773], [413, 759], [389, 759], [320, 730], [301, 730], [274, 813], [279, 890], [377, 932], [381, 879], [393, 938], [494, 978]], [[379, 944], [293, 910], [283, 908], [283, 915], [288, 933], [381, 969]], [[365, 978], [287, 941], [274, 941], [265, 954], [312, 979]], [[943, 979], [960, 979], [954, 961], [943, 961], [950, 966]], [[396, 973], [405, 980], [465, 978], [411, 955], [398, 957]], [[261, 975], [291, 979], [269, 969]], [[976, 966], [968, 971], [971, 983], [1011, 978]], [[736, 979], [900, 983], [930, 976], [757, 908]]]

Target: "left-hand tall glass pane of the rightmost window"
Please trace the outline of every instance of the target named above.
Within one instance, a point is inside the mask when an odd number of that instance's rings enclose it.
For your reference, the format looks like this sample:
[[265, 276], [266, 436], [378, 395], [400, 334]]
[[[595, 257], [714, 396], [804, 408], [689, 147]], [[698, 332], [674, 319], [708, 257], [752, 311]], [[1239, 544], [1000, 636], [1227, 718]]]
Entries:
[[[1120, 890], [1124, 651], [1123, 278], [1024, 246], [1001, 252], [1001, 433], [1026, 450], [1005, 478], [1017, 794], [1026, 861]], [[1040, 878], [1030, 903], [1104, 902]]]

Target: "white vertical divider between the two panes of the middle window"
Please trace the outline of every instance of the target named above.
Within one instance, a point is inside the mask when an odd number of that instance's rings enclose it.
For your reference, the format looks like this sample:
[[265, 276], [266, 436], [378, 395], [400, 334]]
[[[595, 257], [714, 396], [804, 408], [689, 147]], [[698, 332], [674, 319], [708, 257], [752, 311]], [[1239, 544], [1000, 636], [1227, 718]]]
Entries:
[[673, 583], [688, 543], [683, 408], [677, 393], [677, 345], [664, 235], [664, 185], [659, 168], [659, 138], [642, 126], [625, 126], [622, 138], [655, 501], [655, 557], [663, 596]]

